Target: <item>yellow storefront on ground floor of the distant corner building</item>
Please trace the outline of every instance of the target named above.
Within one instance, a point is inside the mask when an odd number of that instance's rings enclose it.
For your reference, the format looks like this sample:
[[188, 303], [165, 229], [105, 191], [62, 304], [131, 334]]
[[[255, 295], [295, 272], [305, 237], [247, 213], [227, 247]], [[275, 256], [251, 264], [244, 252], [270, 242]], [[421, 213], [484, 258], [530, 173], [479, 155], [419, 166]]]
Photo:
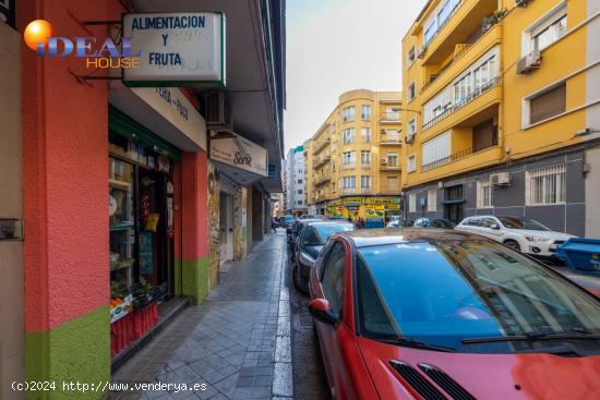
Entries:
[[389, 221], [392, 216], [400, 215], [400, 197], [343, 197], [327, 203], [326, 215], [335, 219], [356, 221], [364, 219], [367, 228], [380, 228]]

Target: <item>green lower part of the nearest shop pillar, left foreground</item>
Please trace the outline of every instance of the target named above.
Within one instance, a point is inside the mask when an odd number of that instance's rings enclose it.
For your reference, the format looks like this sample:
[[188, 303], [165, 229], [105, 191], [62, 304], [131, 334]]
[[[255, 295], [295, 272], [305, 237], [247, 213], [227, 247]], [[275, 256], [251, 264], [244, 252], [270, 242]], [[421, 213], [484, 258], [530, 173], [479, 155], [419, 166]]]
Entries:
[[[50, 331], [25, 334], [25, 379], [56, 381], [56, 391], [28, 391], [28, 400], [101, 399], [103, 390], [64, 391], [63, 383], [110, 380], [110, 311], [104, 305]], [[104, 387], [103, 387], [104, 388]]]

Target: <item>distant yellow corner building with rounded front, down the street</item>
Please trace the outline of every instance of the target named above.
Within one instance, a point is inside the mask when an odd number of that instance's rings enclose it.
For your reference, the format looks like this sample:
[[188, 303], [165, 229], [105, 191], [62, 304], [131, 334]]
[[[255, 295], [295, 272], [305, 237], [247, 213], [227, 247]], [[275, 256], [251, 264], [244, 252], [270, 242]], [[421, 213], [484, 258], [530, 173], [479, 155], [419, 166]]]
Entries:
[[383, 225], [399, 214], [400, 93], [351, 90], [304, 143], [309, 213]]

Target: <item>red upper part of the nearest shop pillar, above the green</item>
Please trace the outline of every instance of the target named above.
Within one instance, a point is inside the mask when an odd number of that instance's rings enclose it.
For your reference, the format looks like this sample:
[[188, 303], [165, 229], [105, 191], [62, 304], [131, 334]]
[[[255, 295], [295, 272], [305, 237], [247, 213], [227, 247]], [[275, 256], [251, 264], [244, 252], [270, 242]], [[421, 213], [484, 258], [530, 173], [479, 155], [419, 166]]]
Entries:
[[[109, 11], [110, 10], [110, 11]], [[113, 20], [116, 0], [17, 2], [21, 31], [48, 20], [55, 36], [88, 36], [79, 20]], [[106, 27], [91, 27], [98, 38]], [[43, 331], [105, 305], [108, 269], [108, 92], [69, 73], [75, 58], [38, 58], [23, 46], [25, 328]]]

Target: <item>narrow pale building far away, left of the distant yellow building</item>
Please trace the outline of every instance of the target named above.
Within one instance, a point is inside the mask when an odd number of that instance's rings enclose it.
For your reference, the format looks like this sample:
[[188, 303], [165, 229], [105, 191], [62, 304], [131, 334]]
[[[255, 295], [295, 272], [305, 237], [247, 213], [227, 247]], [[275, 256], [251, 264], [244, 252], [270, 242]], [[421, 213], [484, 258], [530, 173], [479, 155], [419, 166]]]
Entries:
[[304, 147], [290, 148], [286, 157], [286, 214], [296, 217], [308, 213], [304, 173]]

